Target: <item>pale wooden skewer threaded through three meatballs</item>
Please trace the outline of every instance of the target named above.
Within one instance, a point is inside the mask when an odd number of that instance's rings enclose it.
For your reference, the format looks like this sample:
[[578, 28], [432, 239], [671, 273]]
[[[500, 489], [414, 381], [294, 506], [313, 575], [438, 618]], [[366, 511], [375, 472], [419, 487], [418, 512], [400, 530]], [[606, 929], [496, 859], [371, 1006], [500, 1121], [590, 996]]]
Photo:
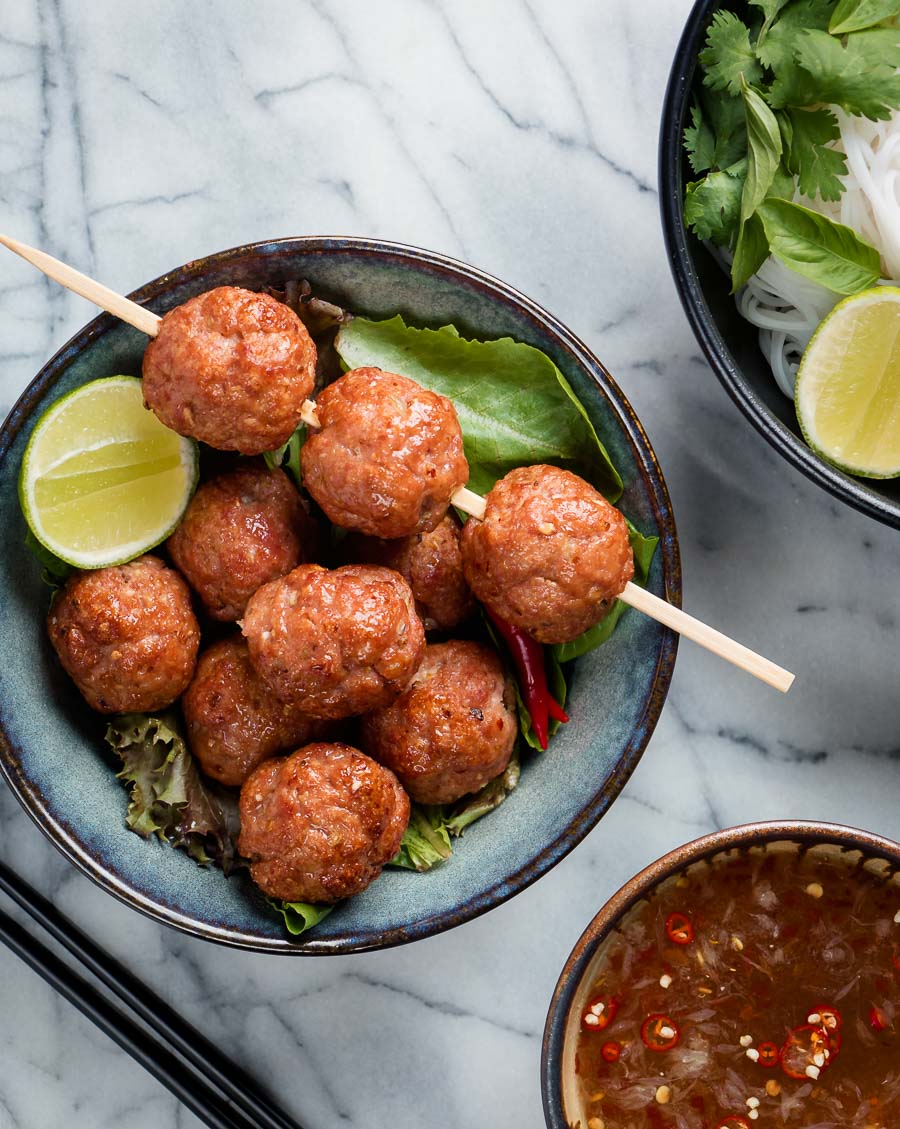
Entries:
[[[36, 247], [29, 247], [25, 243], [19, 243], [18, 239], [11, 239], [8, 235], [0, 235], [0, 244], [9, 247], [17, 255], [21, 255], [23, 259], [27, 260], [40, 271], [43, 271], [49, 278], [54, 279], [76, 294], [80, 294], [82, 298], [93, 301], [101, 309], [105, 309], [129, 325], [133, 325], [141, 333], [155, 338], [159, 332], [161, 318], [157, 314], [146, 309], [143, 306], [139, 306], [129, 298], [124, 298], [114, 290], [110, 290], [108, 287], [95, 282], [87, 274], [67, 266], [59, 259], [53, 259]], [[304, 401], [300, 419], [309, 427], [317, 428], [321, 426], [318, 415], [316, 414], [316, 405], [312, 400]], [[479, 520], [484, 517], [484, 499], [466, 487], [461, 487], [451, 498], [451, 501], [471, 517]], [[762, 655], [750, 650], [749, 647], [735, 642], [734, 639], [729, 639], [720, 631], [716, 631], [715, 628], [707, 627], [706, 623], [701, 623], [692, 615], [688, 615], [687, 612], [682, 612], [680, 607], [673, 607], [665, 599], [654, 596], [652, 592], [646, 592], [636, 584], [629, 581], [626, 585], [624, 592], [620, 593], [619, 599], [643, 612], [645, 615], [649, 615], [650, 619], [656, 620], [658, 623], [672, 628], [673, 631], [678, 631], [679, 634], [683, 634], [687, 639], [691, 639], [701, 647], [706, 647], [714, 655], [718, 655], [719, 658], [733, 663], [742, 671], [746, 671], [748, 674], [761, 679], [762, 682], [775, 686], [781, 693], [786, 693], [794, 682], [794, 675], [789, 671], [777, 666], [768, 658], [763, 658]]]

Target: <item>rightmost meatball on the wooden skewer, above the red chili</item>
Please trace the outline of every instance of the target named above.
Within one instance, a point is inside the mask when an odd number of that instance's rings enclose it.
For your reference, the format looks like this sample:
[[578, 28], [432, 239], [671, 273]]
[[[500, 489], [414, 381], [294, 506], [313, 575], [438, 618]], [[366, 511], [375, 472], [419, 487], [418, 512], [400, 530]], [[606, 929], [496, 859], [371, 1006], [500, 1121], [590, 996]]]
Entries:
[[461, 541], [475, 596], [540, 642], [567, 642], [602, 620], [635, 575], [619, 510], [556, 466], [510, 471], [486, 500]]

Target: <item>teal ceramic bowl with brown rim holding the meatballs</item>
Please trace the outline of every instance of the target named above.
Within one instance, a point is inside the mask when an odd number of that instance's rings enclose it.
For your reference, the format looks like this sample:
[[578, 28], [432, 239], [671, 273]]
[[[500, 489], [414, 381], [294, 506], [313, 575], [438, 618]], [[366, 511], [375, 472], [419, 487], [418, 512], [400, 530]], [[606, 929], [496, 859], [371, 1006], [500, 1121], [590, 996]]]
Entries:
[[[649, 587], [681, 602], [672, 509], [640, 423], [600, 361], [533, 301], [442, 255], [372, 239], [289, 238], [225, 251], [148, 283], [132, 297], [164, 313], [225, 283], [262, 288], [309, 279], [358, 314], [454, 323], [473, 338], [512, 336], [548, 353], [585, 405], [624, 481], [623, 511], [659, 536]], [[103, 315], [41, 370], [0, 432], [0, 769], [25, 809], [72, 863], [129, 905], [194, 936], [271, 953], [384, 948], [483, 913], [558, 863], [594, 826], [637, 764], [665, 700], [674, 636], [629, 612], [612, 640], [577, 660], [569, 714], [518, 788], [427, 874], [386, 870], [312, 933], [291, 940], [246, 875], [200, 869], [124, 824], [125, 793], [91, 714], [56, 664], [44, 631], [47, 592], [24, 548], [17, 500], [30, 430], [56, 397], [101, 376], [140, 375], [146, 344]]]

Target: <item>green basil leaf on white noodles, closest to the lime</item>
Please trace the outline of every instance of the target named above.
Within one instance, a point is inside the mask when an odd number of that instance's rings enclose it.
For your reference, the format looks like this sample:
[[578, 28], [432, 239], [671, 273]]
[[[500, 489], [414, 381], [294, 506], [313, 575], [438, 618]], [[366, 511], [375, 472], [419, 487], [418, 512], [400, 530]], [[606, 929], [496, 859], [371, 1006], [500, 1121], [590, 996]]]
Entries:
[[837, 294], [856, 294], [877, 281], [881, 256], [849, 227], [788, 200], [767, 200], [759, 216], [772, 254], [797, 274]]

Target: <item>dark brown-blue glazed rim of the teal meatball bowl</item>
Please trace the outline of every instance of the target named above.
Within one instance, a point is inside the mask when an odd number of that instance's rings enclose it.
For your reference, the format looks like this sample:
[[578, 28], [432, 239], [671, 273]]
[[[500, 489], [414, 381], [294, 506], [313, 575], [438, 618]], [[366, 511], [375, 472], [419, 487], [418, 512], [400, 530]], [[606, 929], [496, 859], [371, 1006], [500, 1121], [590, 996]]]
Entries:
[[[499, 279], [475, 266], [451, 259], [438, 252], [407, 244], [366, 237], [290, 236], [243, 244], [203, 259], [193, 260], [183, 266], [175, 268], [159, 275], [159, 278], [133, 291], [129, 297], [141, 305], [154, 308], [157, 299], [165, 297], [167, 291], [173, 287], [192, 280], [195, 281], [217, 266], [228, 265], [246, 256], [276, 255], [291, 250], [303, 252], [305, 255], [350, 254], [388, 257], [394, 262], [402, 263], [403, 261], [408, 261], [414, 263], [417, 266], [426, 266], [451, 281], [465, 282], [491, 298], [510, 305], [554, 338], [573, 357], [576, 364], [587, 373], [601, 394], [605, 396], [609, 406], [614, 411], [619, 420], [622, 432], [631, 446], [635, 462], [653, 506], [659, 533], [665, 598], [670, 603], [681, 606], [681, 561], [672, 505], [658, 462], [637, 415], [613, 378], [587, 345], [552, 314]], [[7, 456], [19, 430], [30, 418], [35, 405], [62, 376], [73, 357], [119, 324], [119, 321], [112, 315], [99, 314], [79, 330], [41, 368], [32, 383], [19, 396], [3, 422], [2, 428], [0, 428], [0, 462]], [[446, 929], [454, 928], [486, 913], [540, 878], [584, 839], [624, 787], [646, 749], [665, 702], [676, 650], [678, 637], [672, 631], [664, 631], [649, 691], [644, 702], [640, 733], [632, 735], [605, 786], [596, 794], [592, 803], [582, 808], [578, 817], [554, 841], [543, 847], [526, 866], [496, 882], [493, 885], [481, 891], [477, 896], [469, 899], [462, 907], [455, 909], [452, 914], [445, 913], [427, 917], [409, 925], [384, 930], [377, 938], [350, 937], [337, 940], [330, 938], [324, 942], [317, 942], [315, 935], [313, 935], [308, 938], [303, 937], [299, 940], [290, 940], [287, 937], [276, 939], [239, 933], [217, 926], [213, 922], [199, 922], [195, 918], [181, 913], [172, 907], [161, 904], [140, 891], [132, 889], [102, 859], [95, 858], [85, 849], [79, 842], [77, 833], [64, 823], [61, 823], [50, 812], [40, 790], [33, 787], [32, 782], [20, 771], [15, 747], [9, 739], [1, 716], [0, 772], [2, 772], [7, 784], [27, 814], [70, 863], [77, 866], [97, 885], [147, 917], [194, 937], [202, 937], [231, 947], [255, 952], [295, 955], [333, 955], [390, 948], [443, 933]]]

